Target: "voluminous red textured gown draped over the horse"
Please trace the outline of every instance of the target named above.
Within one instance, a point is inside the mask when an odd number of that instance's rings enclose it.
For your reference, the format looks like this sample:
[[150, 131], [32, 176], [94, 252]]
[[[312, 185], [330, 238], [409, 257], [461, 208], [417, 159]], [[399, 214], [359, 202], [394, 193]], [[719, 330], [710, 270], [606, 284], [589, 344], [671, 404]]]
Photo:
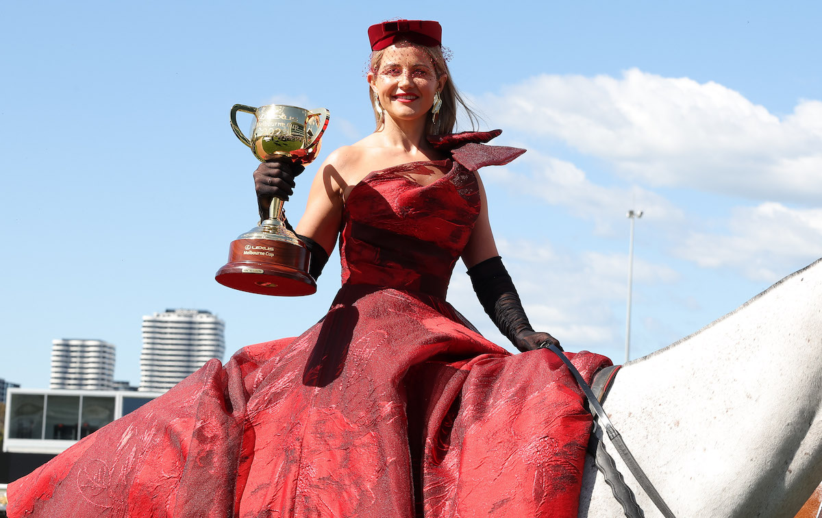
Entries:
[[[450, 169], [404, 174], [427, 166]], [[591, 418], [575, 382], [444, 298], [478, 210], [456, 160], [369, 174], [326, 317], [211, 360], [10, 484], [8, 516], [576, 516]], [[610, 364], [570, 356], [589, 380]]]

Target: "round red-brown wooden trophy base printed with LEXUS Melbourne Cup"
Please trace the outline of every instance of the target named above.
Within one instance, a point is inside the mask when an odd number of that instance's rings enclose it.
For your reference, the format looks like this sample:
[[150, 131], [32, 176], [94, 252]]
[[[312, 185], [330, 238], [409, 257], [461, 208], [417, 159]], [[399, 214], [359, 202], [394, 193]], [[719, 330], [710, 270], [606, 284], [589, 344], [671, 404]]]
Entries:
[[275, 234], [259, 237], [259, 230], [231, 242], [229, 262], [217, 271], [217, 282], [252, 294], [297, 297], [316, 293], [316, 283], [308, 275], [311, 256], [307, 248], [296, 238], [292, 243]]

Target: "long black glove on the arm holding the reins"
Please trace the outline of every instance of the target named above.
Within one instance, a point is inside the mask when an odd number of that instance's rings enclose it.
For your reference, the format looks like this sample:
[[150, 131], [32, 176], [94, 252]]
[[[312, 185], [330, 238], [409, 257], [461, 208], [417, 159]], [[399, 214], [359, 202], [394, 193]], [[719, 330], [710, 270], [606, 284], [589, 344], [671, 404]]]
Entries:
[[472, 266], [468, 275], [479, 303], [517, 349], [530, 351], [546, 342], [560, 347], [559, 340], [552, 335], [533, 331], [501, 257], [492, 257]]

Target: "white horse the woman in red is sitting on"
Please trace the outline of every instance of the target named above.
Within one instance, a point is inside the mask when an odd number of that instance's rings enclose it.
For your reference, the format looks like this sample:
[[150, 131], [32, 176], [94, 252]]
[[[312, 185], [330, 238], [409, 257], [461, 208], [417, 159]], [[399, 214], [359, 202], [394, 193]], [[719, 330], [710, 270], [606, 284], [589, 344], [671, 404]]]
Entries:
[[[626, 363], [603, 406], [677, 518], [796, 515], [822, 480], [822, 259]], [[579, 516], [623, 516], [590, 456]]]

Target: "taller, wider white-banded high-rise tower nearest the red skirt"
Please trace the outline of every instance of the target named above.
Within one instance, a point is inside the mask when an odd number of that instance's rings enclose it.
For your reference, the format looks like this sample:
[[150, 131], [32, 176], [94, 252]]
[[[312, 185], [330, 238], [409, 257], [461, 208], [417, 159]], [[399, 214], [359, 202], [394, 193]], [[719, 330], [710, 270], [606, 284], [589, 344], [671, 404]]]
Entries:
[[197, 309], [143, 317], [140, 391], [168, 391], [210, 358], [222, 359], [224, 329], [218, 317]]

